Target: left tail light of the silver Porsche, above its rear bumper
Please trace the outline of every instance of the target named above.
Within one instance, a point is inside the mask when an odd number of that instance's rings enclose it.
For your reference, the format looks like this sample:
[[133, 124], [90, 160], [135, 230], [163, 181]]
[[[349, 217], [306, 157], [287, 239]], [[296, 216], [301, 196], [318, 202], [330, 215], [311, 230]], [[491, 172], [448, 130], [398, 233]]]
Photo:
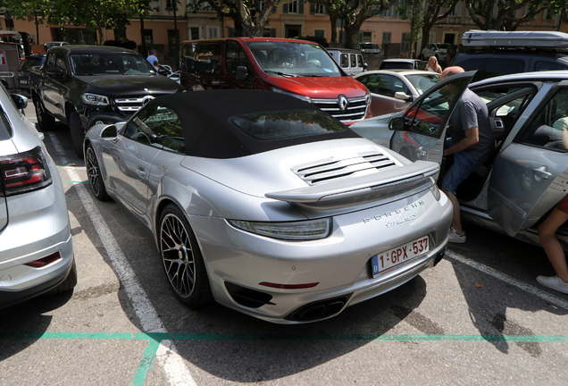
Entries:
[[273, 239], [312, 240], [324, 239], [331, 230], [331, 218], [301, 222], [246, 222], [227, 220], [242, 231], [249, 231]]

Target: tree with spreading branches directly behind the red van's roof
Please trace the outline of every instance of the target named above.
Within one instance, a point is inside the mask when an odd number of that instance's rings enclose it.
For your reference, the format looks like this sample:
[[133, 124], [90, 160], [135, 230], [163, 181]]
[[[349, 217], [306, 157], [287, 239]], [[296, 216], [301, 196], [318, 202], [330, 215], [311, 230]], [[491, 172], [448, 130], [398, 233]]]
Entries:
[[264, 27], [272, 10], [289, 0], [264, 0], [261, 3], [255, 0], [221, 0], [208, 2], [206, 0], [189, 0], [188, 11], [215, 11], [220, 21], [230, 17], [234, 21], [235, 36], [263, 36]]

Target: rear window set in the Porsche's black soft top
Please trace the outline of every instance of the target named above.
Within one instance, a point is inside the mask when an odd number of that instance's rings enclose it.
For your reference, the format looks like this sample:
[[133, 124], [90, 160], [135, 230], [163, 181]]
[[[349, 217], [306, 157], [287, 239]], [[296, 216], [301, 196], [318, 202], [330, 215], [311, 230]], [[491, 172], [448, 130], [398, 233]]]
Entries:
[[249, 113], [231, 117], [229, 122], [247, 136], [258, 140], [298, 138], [347, 130], [327, 113], [290, 110]]

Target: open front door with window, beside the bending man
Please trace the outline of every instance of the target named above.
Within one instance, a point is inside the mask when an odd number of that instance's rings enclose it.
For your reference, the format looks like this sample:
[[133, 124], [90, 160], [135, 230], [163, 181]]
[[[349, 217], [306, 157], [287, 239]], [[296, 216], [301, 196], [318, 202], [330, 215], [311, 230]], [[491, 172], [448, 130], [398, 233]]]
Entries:
[[410, 105], [402, 117], [388, 122], [396, 130], [390, 148], [411, 161], [442, 163], [447, 122], [475, 71], [441, 80]]

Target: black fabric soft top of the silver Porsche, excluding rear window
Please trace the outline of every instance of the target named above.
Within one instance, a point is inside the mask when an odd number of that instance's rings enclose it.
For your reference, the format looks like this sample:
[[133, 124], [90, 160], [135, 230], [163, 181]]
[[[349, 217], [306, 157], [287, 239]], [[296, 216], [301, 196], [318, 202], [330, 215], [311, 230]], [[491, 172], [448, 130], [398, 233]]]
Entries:
[[189, 91], [160, 96], [147, 104], [148, 107], [153, 105], [171, 108], [178, 114], [186, 154], [193, 156], [236, 158], [320, 140], [359, 137], [346, 127], [344, 131], [322, 135], [260, 140], [247, 136], [229, 122], [236, 115], [291, 110], [309, 110], [329, 116], [310, 103], [272, 91]]

